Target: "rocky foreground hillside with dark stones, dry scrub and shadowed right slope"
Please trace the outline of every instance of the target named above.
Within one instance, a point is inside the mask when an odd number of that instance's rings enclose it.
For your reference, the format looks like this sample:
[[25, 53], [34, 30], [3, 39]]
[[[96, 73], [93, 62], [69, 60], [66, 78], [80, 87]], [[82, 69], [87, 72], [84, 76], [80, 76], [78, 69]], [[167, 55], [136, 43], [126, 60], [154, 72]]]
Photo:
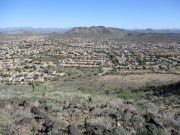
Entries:
[[[40, 91], [25, 93], [27, 90], [20, 90], [21, 93], [14, 91], [9, 95], [4, 90], [2, 94], [8, 97], [3, 98], [2, 95], [0, 99], [0, 133], [180, 135], [179, 95], [176, 94], [179, 84], [143, 88], [144, 98], [129, 100], [110, 95], [110, 91], [105, 95], [79, 91], [55, 91], [41, 95]], [[167, 95], [160, 94], [163, 89]]]

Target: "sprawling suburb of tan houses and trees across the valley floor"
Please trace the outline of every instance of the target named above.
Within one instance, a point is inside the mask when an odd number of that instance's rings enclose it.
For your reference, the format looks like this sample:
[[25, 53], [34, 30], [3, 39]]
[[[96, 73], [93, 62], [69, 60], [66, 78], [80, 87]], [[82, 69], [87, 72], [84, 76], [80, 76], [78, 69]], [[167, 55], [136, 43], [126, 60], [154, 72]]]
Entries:
[[[63, 77], [64, 68], [106, 68], [123, 73], [175, 73], [180, 43], [38, 38], [0, 41], [0, 83], [43, 83]], [[48, 72], [52, 67], [53, 71]], [[106, 71], [106, 72], [108, 72]]]

